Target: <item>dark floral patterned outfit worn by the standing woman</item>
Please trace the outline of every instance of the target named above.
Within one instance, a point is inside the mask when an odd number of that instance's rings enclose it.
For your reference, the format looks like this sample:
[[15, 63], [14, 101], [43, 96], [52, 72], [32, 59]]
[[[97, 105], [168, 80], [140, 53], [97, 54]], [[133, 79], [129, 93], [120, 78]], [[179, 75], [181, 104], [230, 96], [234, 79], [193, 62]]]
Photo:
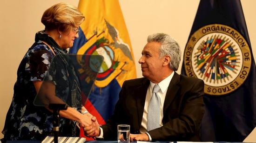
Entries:
[[[74, 68], [67, 67], [64, 59], [61, 63], [55, 63], [59, 67], [51, 68], [50, 76], [46, 76], [49, 75], [48, 68], [54, 54], [42, 41], [50, 45], [56, 55], [67, 53], [45, 31], [36, 33], [35, 43], [28, 49], [17, 71], [13, 99], [2, 131], [6, 140], [42, 140], [46, 136], [53, 136], [52, 113], [33, 104], [36, 97], [33, 81], [43, 81], [46, 78], [53, 81], [56, 96], [61, 95], [69, 106], [81, 110], [81, 90]], [[78, 134], [74, 121], [60, 118], [59, 136]]]

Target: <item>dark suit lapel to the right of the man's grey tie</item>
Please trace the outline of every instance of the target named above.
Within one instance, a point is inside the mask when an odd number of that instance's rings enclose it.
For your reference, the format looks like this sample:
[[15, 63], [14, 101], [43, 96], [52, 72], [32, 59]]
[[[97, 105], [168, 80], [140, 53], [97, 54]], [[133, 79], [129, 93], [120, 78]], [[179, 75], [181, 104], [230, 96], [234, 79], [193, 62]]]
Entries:
[[167, 110], [167, 108], [169, 107], [169, 105], [172, 103], [177, 91], [180, 88], [178, 84], [179, 82], [180, 82], [180, 75], [175, 72], [166, 92], [166, 97], [163, 104], [163, 115]]

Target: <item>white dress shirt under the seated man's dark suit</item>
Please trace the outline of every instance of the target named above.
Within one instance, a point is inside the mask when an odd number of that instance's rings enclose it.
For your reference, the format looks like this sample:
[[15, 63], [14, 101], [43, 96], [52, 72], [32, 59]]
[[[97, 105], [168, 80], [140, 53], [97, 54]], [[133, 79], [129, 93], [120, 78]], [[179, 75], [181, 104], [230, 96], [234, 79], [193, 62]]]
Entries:
[[[160, 86], [160, 90], [157, 92], [157, 95], [160, 97], [160, 101], [161, 101], [161, 107], [160, 107], [160, 127], [162, 127], [162, 118], [163, 118], [163, 104], [164, 104], [164, 99], [166, 96], [166, 92], [168, 89], [168, 86], [170, 84], [170, 81], [172, 79], [174, 75], [174, 71], [165, 79], [163, 79], [160, 83], [158, 83], [158, 85]], [[150, 81], [150, 84], [148, 86], [148, 91], [147, 91], [147, 95], [146, 95], [146, 100], [145, 100], [145, 105], [144, 105], [144, 111], [143, 111], [143, 116], [142, 116], [142, 122], [141, 122], [141, 128], [140, 131], [141, 133], [147, 133], [147, 129], [148, 129], [148, 104], [150, 102], [150, 99], [152, 97], [152, 91], [153, 91], [153, 87], [155, 86], [155, 84], [153, 82]], [[98, 136], [99, 138], [103, 137], [103, 130], [100, 127], [101, 130], [101, 135]], [[147, 133], [148, 134], [148, 133]], [[152, 141], [151, 136], [148, 134], [149, 136], [149, 141]]]

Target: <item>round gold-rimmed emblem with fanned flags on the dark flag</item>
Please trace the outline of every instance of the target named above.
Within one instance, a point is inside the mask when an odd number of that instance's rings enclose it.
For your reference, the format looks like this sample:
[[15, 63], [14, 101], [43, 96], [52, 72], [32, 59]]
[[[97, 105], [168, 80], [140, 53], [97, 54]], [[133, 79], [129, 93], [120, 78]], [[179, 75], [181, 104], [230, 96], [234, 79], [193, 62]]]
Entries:
[[183, 62], [188, 76], [203, 79], [205, 93], [224, 95], [235, 91], [248, 77], [251, 52], [235, 29], [212, 24], [191, 35]]

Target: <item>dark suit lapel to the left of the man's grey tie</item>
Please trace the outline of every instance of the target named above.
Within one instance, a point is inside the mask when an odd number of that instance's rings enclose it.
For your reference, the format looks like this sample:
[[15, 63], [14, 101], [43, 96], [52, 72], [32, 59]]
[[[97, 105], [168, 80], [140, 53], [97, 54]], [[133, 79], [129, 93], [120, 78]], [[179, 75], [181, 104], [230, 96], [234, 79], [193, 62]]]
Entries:
[[148, 85], [149, 85], [149, 80], [147, 78], [144, 78], [141, 86], [139, 86], [135, 92], [137, 93], [137, 113], [138, 113], [137, 121], [138, 121], [139, 127], [141, 127], [141, 121], [142, 121], [142, 116], [144, 111], [146, 95], [148, 91]]

